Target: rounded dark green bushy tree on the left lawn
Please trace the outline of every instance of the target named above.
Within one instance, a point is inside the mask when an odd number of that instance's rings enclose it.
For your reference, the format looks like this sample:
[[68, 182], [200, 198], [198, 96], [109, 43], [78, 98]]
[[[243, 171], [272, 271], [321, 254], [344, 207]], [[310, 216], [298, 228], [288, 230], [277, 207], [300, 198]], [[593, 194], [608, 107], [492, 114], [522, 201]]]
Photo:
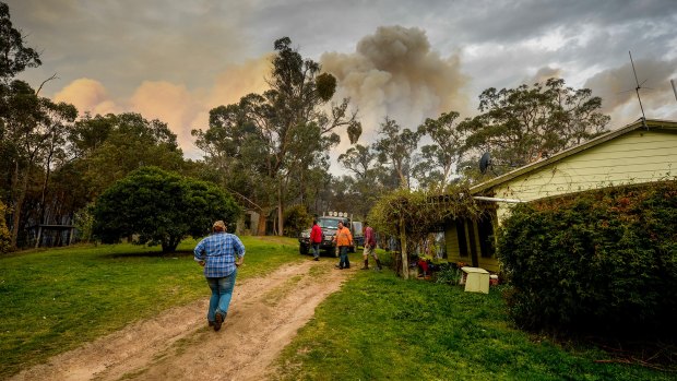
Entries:
[[212, 183], [143, 167], [98, 198], [93, 230], [104, 242], [135, 235], [138, 243], [170, 252], [188, 235], [206, 235], [214, 221], [235, 224], [239, 213], [233, 198]]

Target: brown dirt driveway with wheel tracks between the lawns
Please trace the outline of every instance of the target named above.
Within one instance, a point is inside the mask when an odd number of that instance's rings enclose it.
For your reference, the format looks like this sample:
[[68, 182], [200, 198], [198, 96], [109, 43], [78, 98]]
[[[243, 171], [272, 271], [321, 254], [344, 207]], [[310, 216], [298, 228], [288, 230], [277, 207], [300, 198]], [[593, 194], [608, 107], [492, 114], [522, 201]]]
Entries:
[[[304, 261], [238, 282], [219, 332], [205, 300], [127, 326], [12, 380], [263, 380], [316, 307], [355, 272], [335, 259]], [[206, 288], [206, 285], [205, 285]]]

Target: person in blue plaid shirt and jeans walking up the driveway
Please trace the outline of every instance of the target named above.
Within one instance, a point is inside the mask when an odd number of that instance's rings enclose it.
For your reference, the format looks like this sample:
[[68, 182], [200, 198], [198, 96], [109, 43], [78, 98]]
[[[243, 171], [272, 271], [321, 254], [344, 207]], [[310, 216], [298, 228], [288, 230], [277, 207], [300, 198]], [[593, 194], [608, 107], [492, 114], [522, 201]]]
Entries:
[[212, 289], [206, 320], [214, 331], [221, 330], [226, 320], [233, 297], [237, 267], [245, 262], [245, 245], [236, 236], [226, 233], [226, 224], [217, 221], [213, 234], [195, 246], [194, 259], [204, 267], [206, 283]]

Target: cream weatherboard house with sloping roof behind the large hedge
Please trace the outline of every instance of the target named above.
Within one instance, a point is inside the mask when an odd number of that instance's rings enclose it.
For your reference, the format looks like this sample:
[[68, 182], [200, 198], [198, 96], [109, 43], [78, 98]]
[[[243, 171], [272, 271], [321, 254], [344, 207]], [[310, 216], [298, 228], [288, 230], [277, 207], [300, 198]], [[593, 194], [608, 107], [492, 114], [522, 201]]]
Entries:
[[675, 178], [677, 121], [640, 119], [471, 188], [473, 197], [490, 198], [496, 206], [476, 222], [447, 225], [449, 261], [498, 272], [494, 231], [513, 201]]

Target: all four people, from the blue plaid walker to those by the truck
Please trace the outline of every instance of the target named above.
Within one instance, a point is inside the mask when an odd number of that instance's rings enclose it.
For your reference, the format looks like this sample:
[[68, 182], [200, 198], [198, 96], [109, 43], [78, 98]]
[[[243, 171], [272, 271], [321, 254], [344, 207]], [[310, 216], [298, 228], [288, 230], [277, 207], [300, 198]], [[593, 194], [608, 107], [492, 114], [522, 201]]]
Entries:
[[[353, 235], [343, 222], [339, 223], [339, 229], [334, 236], [339, 248], [340, 260], [336, 269], [349, 269], [348, 248], [353, 246]], [[322, 242], [322, 228], [318, 222], [312, 222], [310, 230], [313, 260], [320, 260], [320, 243]], [[376, 234], [368, 223], [365, 223], [365, 266], [369, 269], [369, 255], [373, 257], [378, 270], [381, 270], [381, 261], [376, 254]], [[204, 267], [204, 277], [212, 290], [210, 307], [207, 308], [207, 324], [214, 331], [221, 330], [228, 315], [228, 307], [233, 298], [237, 269], [245, 262], [245, 245], [234, 234], [226, 231], [226, 224], [217, 221], [212, 226], [212, 235], [202, 239], [193, 250], [194, 260]]]

